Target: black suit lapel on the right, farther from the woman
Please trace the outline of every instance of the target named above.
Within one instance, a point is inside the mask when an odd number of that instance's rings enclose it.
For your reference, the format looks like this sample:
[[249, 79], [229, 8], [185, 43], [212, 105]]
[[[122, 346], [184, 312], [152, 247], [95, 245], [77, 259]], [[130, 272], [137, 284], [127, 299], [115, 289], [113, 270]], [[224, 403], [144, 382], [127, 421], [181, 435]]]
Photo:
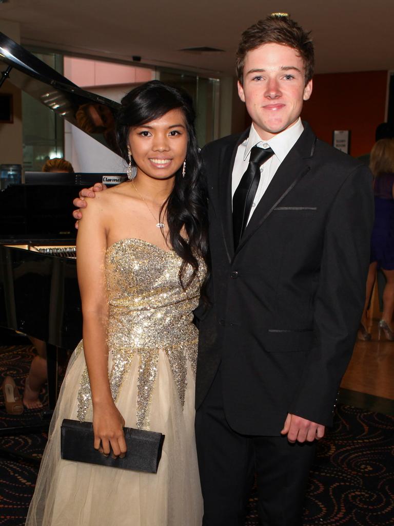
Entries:
[[276, 208], [282, 199], [297, 185], [300, 179], [308, 173], [310, 169], [308, 159], [313, 156], [316, 136], [306, 123], [304, 123], [304, 128], [297, 143], [289, 151], [277, 169], [271, 183], [269, 183], [251, 220], [245, 228], [235, 253], [242, 249], [245, 243], [253, 236], [254, 232], [260, 228], [269, 217], [274, 208]]

